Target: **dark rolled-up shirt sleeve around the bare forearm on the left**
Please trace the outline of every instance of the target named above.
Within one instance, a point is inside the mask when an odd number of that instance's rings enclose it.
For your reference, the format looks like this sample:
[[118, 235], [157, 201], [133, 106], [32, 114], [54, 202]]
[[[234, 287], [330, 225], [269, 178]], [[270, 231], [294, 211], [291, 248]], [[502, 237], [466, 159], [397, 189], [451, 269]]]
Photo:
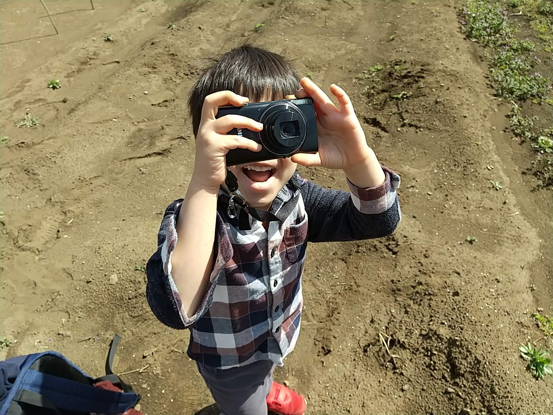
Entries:
[[215, 227], [215, 242], [213, 246], [213, 271], [210, 274], [204, 297], [194, 315], [187, 315], [172, 276], [171, 258], [178, 243], [176, 221], [179, 217], [182, 199], [174, 201], [165, 210], [158, 232], [158, 250], [152, 255], [146, 267], [148, 278], [146, 297], [155, 317], [161, 323], [175, 329], [186, 329], [194, 325], [207, 312], [213, 299], [217, 280], [223, 268], [232, 258], [232, 245], [228, 238], [225, 224], [217, 214]]

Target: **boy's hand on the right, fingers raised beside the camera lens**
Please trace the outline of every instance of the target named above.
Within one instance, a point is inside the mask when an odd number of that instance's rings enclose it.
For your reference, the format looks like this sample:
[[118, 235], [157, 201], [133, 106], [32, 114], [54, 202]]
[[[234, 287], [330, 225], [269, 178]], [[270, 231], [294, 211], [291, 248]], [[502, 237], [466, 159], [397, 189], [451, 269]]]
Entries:
[[330, 92], [336, 97], [340, 108], [328, 98], [315, 82], [304, 77], [301, 89], [286, 99], [310, 96], [315, 102], [319, 152], [298, 153], [292, 161], [306, 167], [321, 166], [328, 169], [342, 169], [348, 178], [359, 187], [378, 186], [384, 181], [384, 172], [371, 148], [367, 145], [365, 133], [351, 100], [336, 84]]

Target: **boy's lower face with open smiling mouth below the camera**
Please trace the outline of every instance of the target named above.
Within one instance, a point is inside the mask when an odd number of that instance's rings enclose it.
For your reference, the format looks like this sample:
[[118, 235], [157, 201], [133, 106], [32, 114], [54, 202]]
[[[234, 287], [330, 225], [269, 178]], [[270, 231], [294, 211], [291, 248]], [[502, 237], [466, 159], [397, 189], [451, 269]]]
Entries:
[[298, 164], [291, 159], [274, 159], [252, 164], [229, 167], [238, 179], [241, 191], [248, 205], [269, 209], [280, 189], [290, 180]]

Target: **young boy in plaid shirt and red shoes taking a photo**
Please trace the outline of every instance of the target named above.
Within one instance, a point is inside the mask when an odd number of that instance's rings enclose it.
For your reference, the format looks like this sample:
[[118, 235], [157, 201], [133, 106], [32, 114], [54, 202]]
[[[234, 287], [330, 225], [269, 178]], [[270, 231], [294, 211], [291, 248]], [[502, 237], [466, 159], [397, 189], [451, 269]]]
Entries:
[[[338, 107], [281, 56], [252, 46], [222, 55], [191, 91], [194, 173], [185, 198], [165, 211], [146, 294], [161, 322], [190, 328], [188, 355], [225, 415], [304, 414], [305, 399], [272, 374], [298, 340], [307, 242], [382, 237], [400, 220], [398, 175], [367, 146], [346, 93], [334, 84], [330, 91]], [[247, 214], [241, 207], [230, 214], [220, 188], [225, 155], [261, 146], [227, 132], [263, 125], [216, 118], [218, 107], [307, 96], [315, 102], [319, 153], [228, 167], [248, 206]], [[301, 179], [298, 164], [342, 169], [350, 193]]]

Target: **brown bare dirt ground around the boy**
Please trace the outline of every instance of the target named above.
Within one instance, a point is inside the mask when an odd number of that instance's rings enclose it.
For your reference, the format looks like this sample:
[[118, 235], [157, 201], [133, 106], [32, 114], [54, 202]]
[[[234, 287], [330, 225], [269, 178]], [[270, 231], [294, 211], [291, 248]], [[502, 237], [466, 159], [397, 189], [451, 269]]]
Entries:
[[[217, 413], [182, 353], [188, 331], [150, 312], [143, 267], [192, 172], [186, 97], [202, 58], [250, 40], [343, 86], [402, 177], [394, 235], [309, 247], [302, 333], [276, 379], [309, 414], [553, 414], [553, 378], [536, 382], [518, 352], [540, 338], [525, 310], [553, 313], [551, 193], [523, 174], [529, 147], [504, 131], [509, 105], [492, 99], [458, 3], [46, 4], [58, 35], [0, 45], [0, 337], [12, 341], [0, 358], [54, 349], [100, 376], [121, 333], [116, 370], [134, 371], [144, 413]], [[0, 10], [2, 43], [55, 33], [39, 1]], [[15, 127], [25, 111], [40, 125]], [[340, 172], [302, 174], [345, 188]]]

